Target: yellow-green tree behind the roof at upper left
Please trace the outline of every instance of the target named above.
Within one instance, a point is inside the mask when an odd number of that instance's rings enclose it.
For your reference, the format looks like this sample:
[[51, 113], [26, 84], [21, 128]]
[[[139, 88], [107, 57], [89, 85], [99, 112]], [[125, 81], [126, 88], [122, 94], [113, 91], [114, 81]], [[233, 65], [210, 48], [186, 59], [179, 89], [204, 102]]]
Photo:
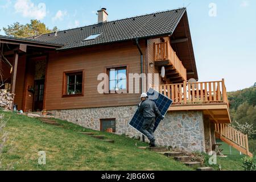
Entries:
[[26, 38], [30, 36], [48, 34], [51, 32], [58, 31], [57, 27], [53, 27], [53, 29], [49, 29], [46, 27], [46, 24], [40, 22], [40, 20], [31, 19], [30, 23], [20, 24], [16, 22], [11, 24], [7, 28], [3, 28], [5, 34], [8, 36], [13, 36], [15, 38]]

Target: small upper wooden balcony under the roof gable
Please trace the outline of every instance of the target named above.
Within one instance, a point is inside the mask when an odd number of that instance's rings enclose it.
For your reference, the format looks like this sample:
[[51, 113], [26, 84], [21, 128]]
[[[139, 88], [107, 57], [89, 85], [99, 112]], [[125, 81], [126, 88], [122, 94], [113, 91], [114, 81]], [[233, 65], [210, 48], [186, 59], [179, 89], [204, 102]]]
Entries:
[[[171, 71], [175, 71], [175, 73], [172, 72], [172, 75], [178, 75], [182, 78], [182, 81], [187, 80], [187, 69], [185, 69], [168, 41], [154, 43], [154, 61], [156, 66], [171, 67]], [[179, 77], [176, 76], [176, 78]]]

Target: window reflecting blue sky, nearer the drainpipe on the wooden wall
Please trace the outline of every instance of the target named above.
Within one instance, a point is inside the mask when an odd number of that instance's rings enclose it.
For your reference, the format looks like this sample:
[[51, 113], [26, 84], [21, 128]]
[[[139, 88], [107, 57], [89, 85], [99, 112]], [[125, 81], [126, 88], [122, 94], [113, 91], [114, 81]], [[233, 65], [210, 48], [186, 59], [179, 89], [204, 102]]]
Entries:
[[127, 90], [127, 68], [126, 67], [108, 69], [108, 76], [109, 76], [110, 92]]

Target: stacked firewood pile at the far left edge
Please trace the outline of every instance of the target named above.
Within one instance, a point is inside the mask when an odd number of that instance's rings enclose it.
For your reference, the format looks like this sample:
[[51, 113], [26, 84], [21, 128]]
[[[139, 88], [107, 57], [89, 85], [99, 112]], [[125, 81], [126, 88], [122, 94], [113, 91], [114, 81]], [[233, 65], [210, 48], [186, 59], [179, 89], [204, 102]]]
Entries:
[[13, 109], [14, 94], [6, 90], [0, 90], [0, 107], [5, 110]]

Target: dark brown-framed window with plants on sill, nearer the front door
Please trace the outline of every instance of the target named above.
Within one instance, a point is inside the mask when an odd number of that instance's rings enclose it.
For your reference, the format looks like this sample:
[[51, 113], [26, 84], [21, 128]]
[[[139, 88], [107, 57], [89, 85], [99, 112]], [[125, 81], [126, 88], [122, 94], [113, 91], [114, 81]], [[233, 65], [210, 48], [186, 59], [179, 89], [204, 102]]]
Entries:
[[83, 94], [83, 71], [64, 73], [64, 96], [82, 96]]

